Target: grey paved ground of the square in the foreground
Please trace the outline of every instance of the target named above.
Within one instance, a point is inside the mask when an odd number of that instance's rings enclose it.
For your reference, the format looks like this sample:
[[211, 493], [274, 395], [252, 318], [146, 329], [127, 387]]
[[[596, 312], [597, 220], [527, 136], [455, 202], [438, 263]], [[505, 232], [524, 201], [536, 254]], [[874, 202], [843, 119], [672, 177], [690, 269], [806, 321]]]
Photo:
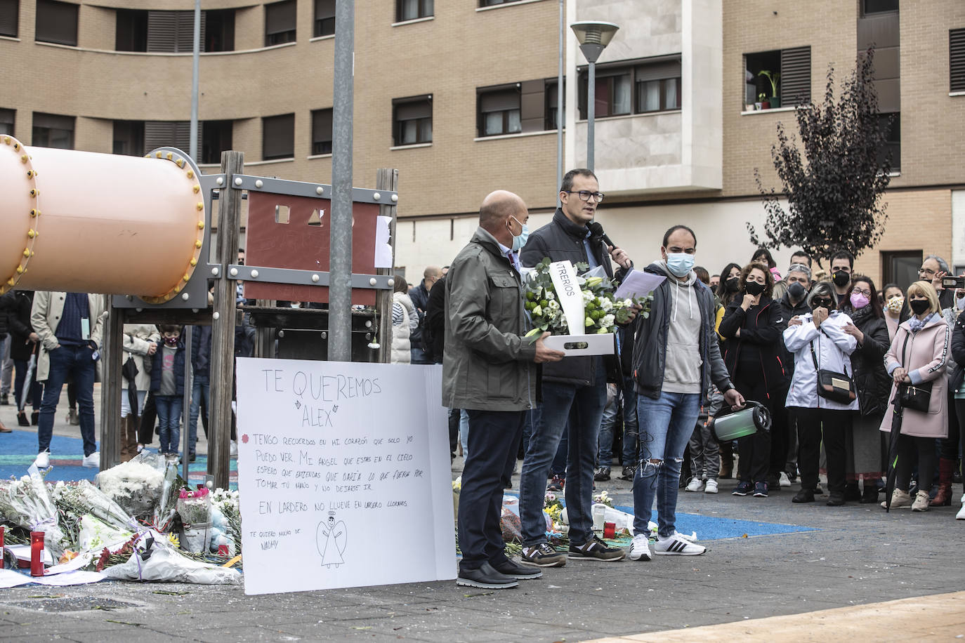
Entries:
[[[12, 407], [0, 407], [0, 419], [14, 424]], [[76, 427], [60, 424], [58, 432], [77, 435]], [[513, 483], [518, 487], [518, 476]], [[735, 497], [732, 486], [723, 481], [718, 496], [681, 492], [679, 510], [813, 530], [708, 541], [710, 550], [696, 557], [571, 561], [502, 592], [455, 582], [261, 597], [246, 597], [241, 587], [180, 584], [25, 586], [0, 590], [0, 639], [580, 641], [945, 594], [965, 585], [965, 522], [953, 520], [957, 506], [888, 515], [872, 505], [792, 505], [787, 491]], [[632, 504], [627, 482], [598, 488], [608, 489], [617, 504]], [[391, 549], [391, 534], [372, 534], [371, 547]], [[941, 605], [952, 600], [960, 597], [936, 599]], [[922, 604], [888, 607], [906, 614], [894, 636], [876, 630], [864, 638], [924, 638], [934, 623]], [[810, 640], [816, 618], [789, 622], [789, 630], [770, 638]], [[961, 620], [948, 621], [940, 634], [965, 635]], [[720, 631], [726, 636], [710, 638], [745, 636], [744, 630]]]

